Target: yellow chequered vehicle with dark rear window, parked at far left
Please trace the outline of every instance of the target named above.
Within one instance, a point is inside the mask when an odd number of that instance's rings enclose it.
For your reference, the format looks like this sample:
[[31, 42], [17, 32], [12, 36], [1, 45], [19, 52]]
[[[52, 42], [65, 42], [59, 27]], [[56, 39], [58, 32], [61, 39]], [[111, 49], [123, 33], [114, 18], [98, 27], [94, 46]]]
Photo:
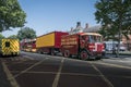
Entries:
[[19, 39], [1, 39], [0, 54], [19, 55], [20, 54]]

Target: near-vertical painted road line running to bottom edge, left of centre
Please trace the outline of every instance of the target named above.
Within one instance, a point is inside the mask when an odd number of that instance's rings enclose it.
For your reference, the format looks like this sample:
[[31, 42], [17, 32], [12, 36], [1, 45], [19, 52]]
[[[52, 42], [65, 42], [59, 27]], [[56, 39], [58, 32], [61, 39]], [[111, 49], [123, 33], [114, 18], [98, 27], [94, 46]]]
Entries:
[[61, 74], [61, 70], [62, 70], [62, 66], [63, 66], [63, 62], [64, 62], [64, 58], [62, 58], [61, 60], [61, 64], [60, 64], [60, 67], [59, 67], [59, 71], [55, 77], [55, 80], [52, 83], [52, 87], [57, 87], [58, 86], [58, 82], [59, 82], [59, 78], [60, 78], [60, 74]]

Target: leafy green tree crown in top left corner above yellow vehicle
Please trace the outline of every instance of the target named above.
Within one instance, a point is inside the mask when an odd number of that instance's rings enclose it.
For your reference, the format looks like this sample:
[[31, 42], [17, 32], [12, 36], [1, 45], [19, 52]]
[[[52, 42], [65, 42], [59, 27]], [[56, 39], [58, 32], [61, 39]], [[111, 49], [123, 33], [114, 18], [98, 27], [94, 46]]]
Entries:
[[25, 17], [17, 0], [0, 0], [0, 32], [24, 26]]

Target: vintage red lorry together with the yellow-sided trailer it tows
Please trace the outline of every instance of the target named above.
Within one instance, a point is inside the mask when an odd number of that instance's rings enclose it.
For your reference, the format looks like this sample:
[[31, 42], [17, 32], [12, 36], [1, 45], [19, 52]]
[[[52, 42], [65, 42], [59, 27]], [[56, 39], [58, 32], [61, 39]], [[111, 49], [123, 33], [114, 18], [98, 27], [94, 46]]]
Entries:
[[62, 32], [52, 32], [36, 38], [36, 51], [39, 53], [63, 57], [78, 55], [82, 60], [102, 58], [104, 44], [102, 35], [97, 33], [76, 33], [69, 35]]

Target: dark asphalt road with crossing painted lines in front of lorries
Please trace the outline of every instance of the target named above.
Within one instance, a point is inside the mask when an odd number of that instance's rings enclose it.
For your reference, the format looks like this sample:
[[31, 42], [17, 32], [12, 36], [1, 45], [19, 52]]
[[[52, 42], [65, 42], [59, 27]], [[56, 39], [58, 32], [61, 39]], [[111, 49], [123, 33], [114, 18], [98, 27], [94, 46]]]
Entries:
[[22, 52], [4, 62], [20, 87], [131, 87], [130, 59], [82, 61]]

